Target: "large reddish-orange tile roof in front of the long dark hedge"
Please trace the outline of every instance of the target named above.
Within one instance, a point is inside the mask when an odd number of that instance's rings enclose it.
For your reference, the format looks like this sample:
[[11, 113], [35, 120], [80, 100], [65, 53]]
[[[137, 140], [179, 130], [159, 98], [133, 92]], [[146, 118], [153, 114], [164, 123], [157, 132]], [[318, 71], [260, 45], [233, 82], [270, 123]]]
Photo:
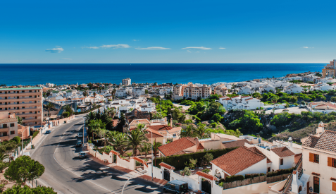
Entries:
[[235, 175], [239, 171], [247, 169], [258, 162], [266, 159], [265, 156], [249, 150], [247, 147], [239, 147], [221, 157], [213, 159], [211, 164], [218, 166], [229, 175]]

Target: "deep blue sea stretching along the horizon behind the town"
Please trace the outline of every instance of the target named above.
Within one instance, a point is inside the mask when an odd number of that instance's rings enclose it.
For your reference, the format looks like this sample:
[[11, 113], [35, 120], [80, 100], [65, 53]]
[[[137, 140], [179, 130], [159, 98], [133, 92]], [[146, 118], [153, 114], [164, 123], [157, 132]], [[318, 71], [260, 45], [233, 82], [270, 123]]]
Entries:
[[326, 63], [0, 64], [0, 84], [218, 83], [322, 71]]

